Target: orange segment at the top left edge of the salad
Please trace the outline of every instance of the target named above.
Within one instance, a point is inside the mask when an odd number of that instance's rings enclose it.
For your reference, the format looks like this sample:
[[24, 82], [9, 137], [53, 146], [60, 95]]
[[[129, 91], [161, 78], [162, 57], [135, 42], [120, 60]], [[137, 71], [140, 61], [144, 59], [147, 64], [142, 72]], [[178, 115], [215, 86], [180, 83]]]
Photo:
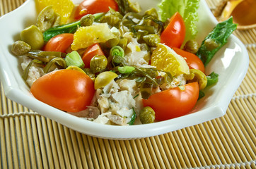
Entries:
[[36, 0], [36, 6], [38, 11], [42, 11], [46, 6], [52, 6], [54, 12], [61, 16], [62, 24], [66, 23], [74, 8], [71, 0]]

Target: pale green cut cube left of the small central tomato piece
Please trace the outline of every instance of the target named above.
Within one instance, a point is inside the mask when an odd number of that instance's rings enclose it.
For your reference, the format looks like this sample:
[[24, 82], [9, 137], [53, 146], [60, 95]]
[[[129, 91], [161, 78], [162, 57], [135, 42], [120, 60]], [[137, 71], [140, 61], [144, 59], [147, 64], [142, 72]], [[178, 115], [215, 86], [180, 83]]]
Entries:
[[78, 68], [84, 67], [83, 60], [77, 51], [72, 51], [71, 53], [67, 54], [65, 61], [67, 66], [76, 65]]

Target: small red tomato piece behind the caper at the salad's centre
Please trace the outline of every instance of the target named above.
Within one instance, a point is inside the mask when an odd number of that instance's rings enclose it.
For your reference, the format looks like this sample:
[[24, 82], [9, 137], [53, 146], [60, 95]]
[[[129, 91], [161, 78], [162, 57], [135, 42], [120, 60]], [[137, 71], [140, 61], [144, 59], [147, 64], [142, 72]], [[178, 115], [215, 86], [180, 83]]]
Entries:
[[[92, 46], [88, 46], [86, 51], [83, 53], [83, 63], [85, 68], [90, 68], [91, 58], [95, 55], [104, 55], [103, 50], [100, 47], [100, 44], [93, 44]], [[104, 55], [105, 56], [105, 55]]]

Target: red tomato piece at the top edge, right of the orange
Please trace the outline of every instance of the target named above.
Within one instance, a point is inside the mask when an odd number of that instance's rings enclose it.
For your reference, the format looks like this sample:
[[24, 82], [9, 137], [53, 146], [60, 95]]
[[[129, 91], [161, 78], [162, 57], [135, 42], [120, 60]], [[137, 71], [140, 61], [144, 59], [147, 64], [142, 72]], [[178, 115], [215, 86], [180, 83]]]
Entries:
[[118, 11], [115, 0], [84, 0], [76, 8], [74, 18], [78, 20], [86, 14], [105, 13], [110, 10], [109, 7]]

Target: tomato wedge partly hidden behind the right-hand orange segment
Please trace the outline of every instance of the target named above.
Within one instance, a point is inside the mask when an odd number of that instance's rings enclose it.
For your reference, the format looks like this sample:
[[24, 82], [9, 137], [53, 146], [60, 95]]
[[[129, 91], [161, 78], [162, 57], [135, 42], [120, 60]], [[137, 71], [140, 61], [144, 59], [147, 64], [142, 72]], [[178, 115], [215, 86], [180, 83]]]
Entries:
[[201, 61], [201, 59], [198, 56], [196, 56], [195, 54], [192, 54], [188, 51], [184, 51], [182, 49], [178, 49], [175, 47], [173, 47], [173, 50], [177, 54], [179, 54], [180, 56], [185, 58], [187, 65], [190, 67], [190, 69], [201, 70], [204, 73], [204, 71], [205, 71], [204, 63]]

